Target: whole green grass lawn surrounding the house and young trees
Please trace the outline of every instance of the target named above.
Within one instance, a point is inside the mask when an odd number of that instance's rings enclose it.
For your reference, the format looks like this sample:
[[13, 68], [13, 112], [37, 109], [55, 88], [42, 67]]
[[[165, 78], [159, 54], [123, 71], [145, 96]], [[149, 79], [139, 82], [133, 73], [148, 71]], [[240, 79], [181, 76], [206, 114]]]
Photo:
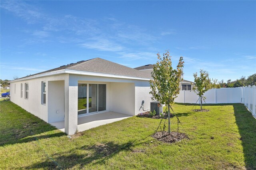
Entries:
[[256, 119], [242, 104], [204, 113], [173, 105], [189, 136], [173, 144], [151, 137], [159, 119], [134, 116], [69, 139], [10, 101], [0, 106], [0, 169], [256, 169]]

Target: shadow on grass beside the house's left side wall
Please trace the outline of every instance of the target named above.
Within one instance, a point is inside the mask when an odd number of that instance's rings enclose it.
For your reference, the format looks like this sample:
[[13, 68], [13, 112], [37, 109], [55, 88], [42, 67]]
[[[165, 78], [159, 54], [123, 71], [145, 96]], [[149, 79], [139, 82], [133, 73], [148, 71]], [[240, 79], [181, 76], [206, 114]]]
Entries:
[[10, 101], [1, 102], [0, 122], [0, 146], [66, 135]]

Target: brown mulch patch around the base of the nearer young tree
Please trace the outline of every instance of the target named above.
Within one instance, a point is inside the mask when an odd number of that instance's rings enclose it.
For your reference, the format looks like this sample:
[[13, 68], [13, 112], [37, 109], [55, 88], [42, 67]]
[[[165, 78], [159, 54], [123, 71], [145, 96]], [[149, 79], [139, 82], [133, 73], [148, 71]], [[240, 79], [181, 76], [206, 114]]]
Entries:
[[170, 135], [168, 135], [168, 132], [156, 132], [152, 135], [153, 138], [156, 138], [159, 141], [166, 142], [166, 143], [174, 143], [178, 142], [182, 139], [188, 138], [188, 136], [185, 133], [180, 132], [171, 132]]

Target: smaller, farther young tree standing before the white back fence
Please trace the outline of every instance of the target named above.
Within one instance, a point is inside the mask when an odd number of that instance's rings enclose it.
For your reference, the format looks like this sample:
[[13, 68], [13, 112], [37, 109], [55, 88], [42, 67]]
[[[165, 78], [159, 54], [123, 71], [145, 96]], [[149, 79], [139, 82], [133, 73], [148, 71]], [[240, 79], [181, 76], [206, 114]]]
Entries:
[[195, 78], [195, 86], [193, 87], [193, 91], [200, 97], [200, 106], [202, 111], [202, 99], [206, 99], [206, 97], [204, 97], [204, 93], [212, 88], [211, 80], [209, 79], [208, 72], [204, 70], [200, 70], [199, 76], [197, 76], [197, 72], [194, 73], [193, 76]]

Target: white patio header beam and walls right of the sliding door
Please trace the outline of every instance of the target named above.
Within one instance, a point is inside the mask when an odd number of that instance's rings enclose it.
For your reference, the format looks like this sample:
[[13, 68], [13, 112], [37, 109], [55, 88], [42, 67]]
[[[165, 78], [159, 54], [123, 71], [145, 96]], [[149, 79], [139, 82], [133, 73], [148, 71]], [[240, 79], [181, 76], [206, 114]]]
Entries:
[[149, 81], [88, 75], [70, 75], [70, 81], [107, 84], [107, 111], [137, 115], [144, 112], [140, 109], [142, 100], [145, 101], [144, 110], [150, 109]]

